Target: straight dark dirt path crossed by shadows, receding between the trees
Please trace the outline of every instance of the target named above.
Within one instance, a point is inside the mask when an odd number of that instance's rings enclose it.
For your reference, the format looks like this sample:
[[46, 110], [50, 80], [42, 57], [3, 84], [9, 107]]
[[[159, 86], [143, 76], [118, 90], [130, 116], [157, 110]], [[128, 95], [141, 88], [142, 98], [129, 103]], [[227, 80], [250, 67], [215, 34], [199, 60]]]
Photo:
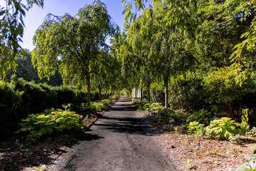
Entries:
[[176, 170], [129, 98], [97, 120], [87, 140], [68, 149], [49, 170]]

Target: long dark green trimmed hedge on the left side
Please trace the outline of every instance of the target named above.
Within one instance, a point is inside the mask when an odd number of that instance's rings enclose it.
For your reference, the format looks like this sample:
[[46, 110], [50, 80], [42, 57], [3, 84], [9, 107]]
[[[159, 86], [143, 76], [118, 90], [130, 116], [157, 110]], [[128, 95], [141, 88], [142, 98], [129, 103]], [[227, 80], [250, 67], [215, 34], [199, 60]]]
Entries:
[[[36, 84], [13, 76], [11, 83], [0, 82], [0, 129], [1, 138], [12, 135], [21, 119], [31, 113], [41, 113], [46, 108], [62, 108], [86, 103], [87, 93], [68, 87]], [[93, 100], [93, 99], [92, 99]]]

